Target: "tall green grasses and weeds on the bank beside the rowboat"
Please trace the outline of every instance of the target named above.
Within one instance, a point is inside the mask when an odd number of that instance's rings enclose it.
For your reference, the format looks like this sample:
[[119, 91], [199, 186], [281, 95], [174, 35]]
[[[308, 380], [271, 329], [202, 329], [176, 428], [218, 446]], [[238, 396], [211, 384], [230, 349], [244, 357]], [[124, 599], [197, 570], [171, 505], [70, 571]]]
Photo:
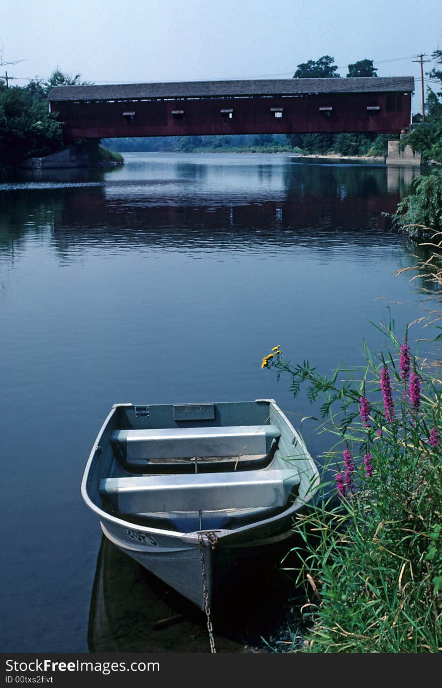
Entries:
[[[279, 352], [265, 357], [264, 367], [289, 376], [294, 396], [305, 383], [311, 400], [324, 400], [319, 430], [333, 444], [329, 468], [340, 469], [344, 449], [354, 460], [344, 495], [330, 496], [330, 484], [323, 483], [322, 499], [298, 513], [294, 525], [303, 541], [295, 548], [296, 583], [309, 596], [303, 652], [442, 647], [441, 383], [415, 361], [420, 404], [412, 405], [393, 323], [380, 329], [390, 348], [376, 361], [364, 345], [360, 370], [339, 368], [325, 377], [307, 362], [291, 365]], [[393, 420], [386, 420], [379, 389], [384, 360]], [[368, 427], [360, 418], [362, 395], [370, 405]], [[368, 454], [371, 471], [363, 460]]]

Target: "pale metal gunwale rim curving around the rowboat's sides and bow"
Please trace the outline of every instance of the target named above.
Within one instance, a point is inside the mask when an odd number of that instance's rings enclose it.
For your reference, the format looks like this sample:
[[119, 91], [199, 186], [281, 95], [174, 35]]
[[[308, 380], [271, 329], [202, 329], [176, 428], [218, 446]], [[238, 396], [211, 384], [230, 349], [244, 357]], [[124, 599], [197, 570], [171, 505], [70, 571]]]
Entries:
[[[305, 456], [304, 459], [306, 462], [308, 462], [311, 466], [311, 479], [309, 480], [309, 498], [305, 499], [304, 497], [296, 497], [294, 500], [293, 504], [289, 506], [286, 510], [284, 510], [282, 513], [277, 514], [276, 516], [272, 516], [268, 519], [263, 519], [262, 521], [259, 522], [254, 522], [251, 524], [247, 524], [245, 526], [241, 526], [239, 528], [234, 528], [234, 530], [228, 530], [228, 529], [223, 529], [223, 528], [213, 528], [211, 529], [211, 532], [217, 533], [219, 538], [227, 538], [227, 537], [234, 537], [236, 539], [237, 536], [241, 536], [243, 533], [247, 533], [248, 531], [251, 530], [256, 530], [256, 528], [261, 528], [263, 526], [267, 526], [272, 523], [276, 523], [278, 521], [281, 521], [283, 519], [286, 519], [287, 517], [290, 517], [292, 514], [294, 514], [296, 511], [298, 511], [302, 506], [305, 506], [310, 499], [313, 497], [313, 495], [316, 493], [319, 487], [320, 483], [320, 475], [318, 468], [313, 461], [313, 458], [311, 457], [311, 454], [307, 450], [307, 446], [300, 436], [300, 434], [296, 431], [296, 429], [293, 427], [291, 422], [288, 420], [288, 418], [285, 416], [285, 413], [278, 407], [276, 404], [276, 401], [274, 399], [255, 399], [254, 402], [251, 403], [256, 403], [256, 402], [269, 402], [269, 408], [273, 407], [273, 410], [276, 411], [276, 415], [278, 416], [278, 419], [282, 420], [286, 425], [287, 429], [298, 439], [298, 441], [301, 442], [303, 449], [305, 450]], [[142, 526], [141, 524], [134, 524], [132, 521], [126, 521], [118, 516], [113, 516], [109, 514], [107, 511], [104, 509], [100, 508], [98, 504], [92, 501], [91, 497], [89, 497], [88, 491], [87, 491], [87, 482], [89, 479], [89, 473], [91, 471], [91, 468], [93, 466], [94, 461], [98, 461], [99, 457], [96, 454], [96, 451], [100, 445], [100, 440], [104, 434], [104, 432], [107, 430], [107, 427], [109, 426], [111, 420], [113, 419], [113, 416], [115, 416], [115, 413], [117, 409], [122, 408], [122, 407], [133, 407], [135, 405], [131, 403], [122, 403], [122, 404], [114, 404], [111, 408], [111, 411], [109, 411], [107, 418], [104, 420], [102, 427], [100, 428], [100, 431], [98, 432], [98, 436], [93, 443], [91, 452], [89, 453], [89, 458], [87, 460], [87, 464], [85, 466], [85, 472], [83, 473], [82, 477], [82, 483], [81, 483], [81, 495], [82, 498], [85, 500], [85, 503], [91, 510], [96, 513], [100, 517], [100, 521], [107, 521], [111, 522], [115, 526], [120, 526], [120, 528], [129, 528], [131, 530], [138, 530], [140, 533], [146, 533], [147, 535], [157, 535], [157, 536], [164, 536], [172, 539], [177, 539], [181, 540], [190, 544], [195, 544], [197, 543], [199, 539], [199, 533], [204, 533], [205, 531], [194, 531], [192, 533], [181, 533], [179, 530], [163, 530], [162, 528], [152, 528], [151, 526]], [[138, 548], [138, 550], [144, 550], [146, 549], [145, 547]]]

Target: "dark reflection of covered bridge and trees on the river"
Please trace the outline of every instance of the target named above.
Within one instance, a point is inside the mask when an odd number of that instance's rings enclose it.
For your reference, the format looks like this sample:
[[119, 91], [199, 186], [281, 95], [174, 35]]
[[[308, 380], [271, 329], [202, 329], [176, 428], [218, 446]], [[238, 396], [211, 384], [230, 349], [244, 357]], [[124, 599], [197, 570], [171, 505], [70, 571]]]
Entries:
[[31, 181], [27, 172], [26, 180], [0, 184], [0, 246], [46, 230], [63, 250], [103, 241], [265, 252], [320, 242], [327, 250], [338, 233], [366, 241], [367, 230], [389, 230], [384, 213], [395, 211], [412, 179], [397, 168], [306, 165], [288, 156], [251, 164], [233, 155], [228, 166], [222, 154], [210, 165], [195, 155], [187, 162], [153, 155], [143, 166], [131, 155], [126, 169], [111, 173], [39, 171]]

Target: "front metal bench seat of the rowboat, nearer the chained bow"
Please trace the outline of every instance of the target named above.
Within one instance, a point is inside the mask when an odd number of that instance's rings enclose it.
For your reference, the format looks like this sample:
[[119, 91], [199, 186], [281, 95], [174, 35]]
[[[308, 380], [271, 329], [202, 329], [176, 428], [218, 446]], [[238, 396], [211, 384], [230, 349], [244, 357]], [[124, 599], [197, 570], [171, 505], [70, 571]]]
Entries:
[[191, 475], [137, 475], [100, 480], [100, 493], [120, 513], [285, 506], [300, 482], [296, 468]]

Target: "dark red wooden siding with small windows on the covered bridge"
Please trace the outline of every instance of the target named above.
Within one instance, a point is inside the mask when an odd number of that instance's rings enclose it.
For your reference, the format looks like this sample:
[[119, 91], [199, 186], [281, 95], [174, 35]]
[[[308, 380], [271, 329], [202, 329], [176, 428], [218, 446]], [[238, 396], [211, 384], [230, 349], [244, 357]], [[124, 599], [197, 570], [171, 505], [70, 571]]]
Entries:
[[[379, 109], [367, 109], [374, 107]], [[282, 117], [276, 117], [272, 108], [282, 108]], [[232, 110], [232, 118], [221, 110]], [[223, 133], [399, 133], [410, 125], [411, 92], [70, 100], [52, 103], [52, 111], [58, 112], [58, 119], [65, 123], [66, 140]], [[172, 111], [184, 114], [174, 115]]]

